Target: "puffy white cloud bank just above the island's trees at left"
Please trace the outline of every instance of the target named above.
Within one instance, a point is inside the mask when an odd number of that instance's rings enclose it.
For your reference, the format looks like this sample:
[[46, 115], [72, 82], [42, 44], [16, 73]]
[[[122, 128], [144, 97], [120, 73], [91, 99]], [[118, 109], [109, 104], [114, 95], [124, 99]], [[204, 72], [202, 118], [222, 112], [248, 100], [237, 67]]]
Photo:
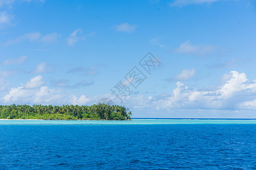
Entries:
[[[82, 82], [84, 83], [84, 82]], [[0, 97], [0, 102], [4, 104], [43, 104], [43, 105], [63, 105], [63, 104], [95, 104], [103, 96], [77, 97], [69, 93], [63, 94], [60, 90], [44, 86], [45, 82], [41, 75], [31, 78], [27, 83], [16, 88], [10, 88], [10, 84], [0, 79], [0, 91], [9, 91]]]

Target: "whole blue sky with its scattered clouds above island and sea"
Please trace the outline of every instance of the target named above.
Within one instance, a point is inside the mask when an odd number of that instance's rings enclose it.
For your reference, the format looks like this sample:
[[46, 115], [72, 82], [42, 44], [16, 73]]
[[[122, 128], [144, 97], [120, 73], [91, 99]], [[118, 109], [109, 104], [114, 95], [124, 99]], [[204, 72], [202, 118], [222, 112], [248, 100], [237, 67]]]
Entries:
[[256, 118], [256, 2], [0, 0], [0, 104]]

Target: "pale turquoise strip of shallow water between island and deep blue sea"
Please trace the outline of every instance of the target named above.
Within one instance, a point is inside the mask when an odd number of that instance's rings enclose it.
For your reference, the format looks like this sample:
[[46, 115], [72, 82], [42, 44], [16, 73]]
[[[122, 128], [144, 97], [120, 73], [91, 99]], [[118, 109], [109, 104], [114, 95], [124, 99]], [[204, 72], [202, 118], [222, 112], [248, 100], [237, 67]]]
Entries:
[[0, 120], [0, 125], [154, 125], [154, 124], [256, 124], [255, 119], [133, 119], [131, 121]]

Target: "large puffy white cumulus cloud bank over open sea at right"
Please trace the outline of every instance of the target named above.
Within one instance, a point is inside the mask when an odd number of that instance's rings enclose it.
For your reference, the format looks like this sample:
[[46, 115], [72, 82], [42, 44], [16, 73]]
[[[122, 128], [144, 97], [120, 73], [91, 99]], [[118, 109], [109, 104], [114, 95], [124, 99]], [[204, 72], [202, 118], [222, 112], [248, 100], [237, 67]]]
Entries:
[[245, 73], [231, 71], [232, 75], [217, 90], [199, 90], [177, 82], [172, 94], [155, 101], [166, 108], [246, 109], [254, 108], [256, 80], [249, 81]]

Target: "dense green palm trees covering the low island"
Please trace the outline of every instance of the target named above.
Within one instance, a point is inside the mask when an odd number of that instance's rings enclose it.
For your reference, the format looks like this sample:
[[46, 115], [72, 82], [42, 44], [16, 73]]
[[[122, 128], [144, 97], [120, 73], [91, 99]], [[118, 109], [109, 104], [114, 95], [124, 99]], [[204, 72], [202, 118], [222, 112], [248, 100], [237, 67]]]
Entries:
[[0, 105], [1, 119], [130, 120], [131, 112], [119, 105]]

